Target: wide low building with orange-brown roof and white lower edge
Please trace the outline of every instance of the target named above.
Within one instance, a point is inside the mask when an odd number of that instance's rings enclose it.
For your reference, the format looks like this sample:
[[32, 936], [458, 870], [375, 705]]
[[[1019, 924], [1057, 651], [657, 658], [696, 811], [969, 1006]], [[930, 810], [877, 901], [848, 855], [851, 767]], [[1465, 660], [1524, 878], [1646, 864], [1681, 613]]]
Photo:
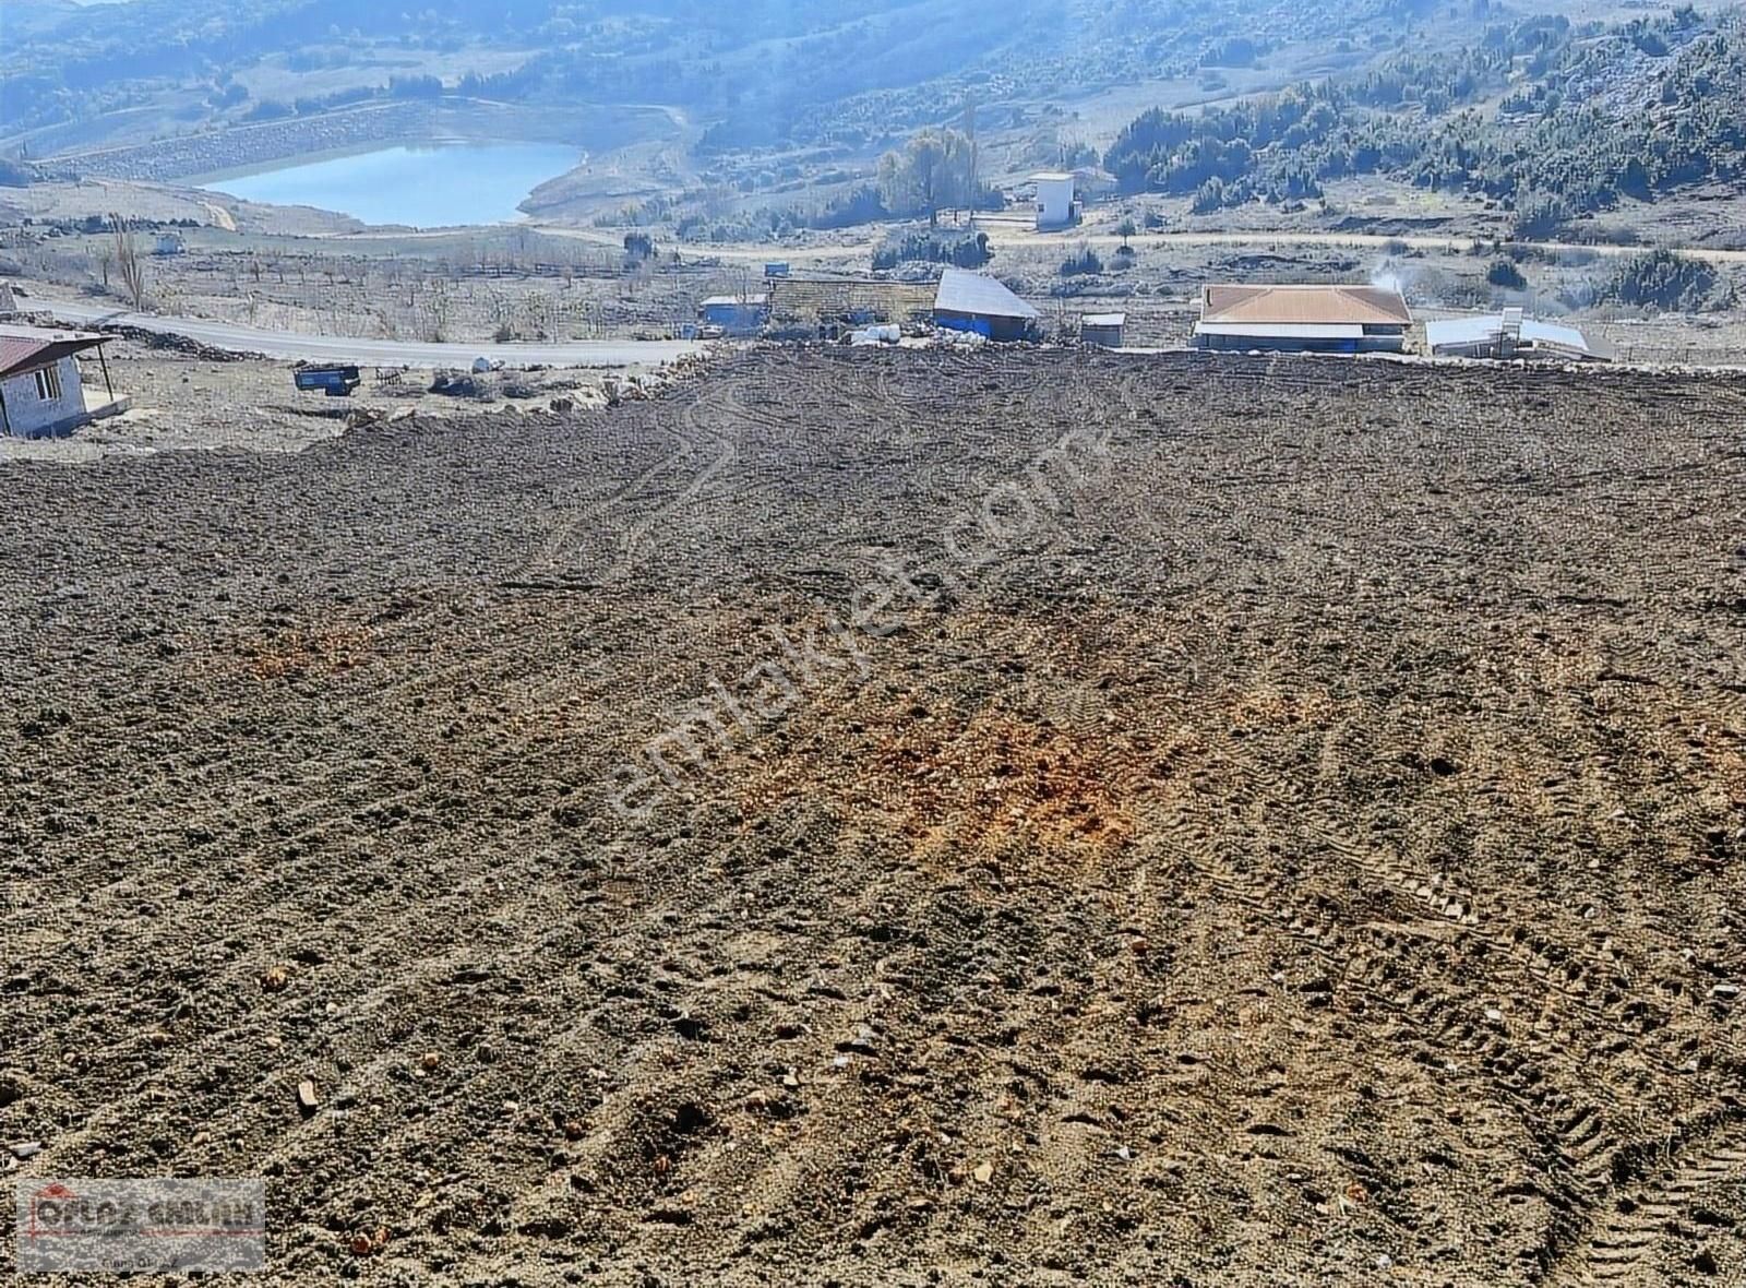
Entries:
[[1413, 312], [1388, 286], [1203, 286], [1200, 349], [1400, 353]]

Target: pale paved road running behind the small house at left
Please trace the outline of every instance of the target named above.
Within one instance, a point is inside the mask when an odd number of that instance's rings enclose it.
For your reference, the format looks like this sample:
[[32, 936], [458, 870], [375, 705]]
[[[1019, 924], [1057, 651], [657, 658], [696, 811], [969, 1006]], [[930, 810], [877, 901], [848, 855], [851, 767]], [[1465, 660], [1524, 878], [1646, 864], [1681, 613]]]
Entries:
[[26, 307], [52, 312], [61, 321], [91, 326], [138, 326], [161, 335], [185, 335], [213, 349], [260, 353], [267, 358], [306, 358], [360, 367], [470, 367], [489, 358], [505, 367], [651, 367], [698, 353], [690, 340], [566, 340], [562, 344], [416, 344], [409, 340], [365, 340], [342, 335], [297, 335], [264, 332], [257, 326], [211, 321], [210, 318], [155, 318], [126, 312], [93, 300], [31, 297]]

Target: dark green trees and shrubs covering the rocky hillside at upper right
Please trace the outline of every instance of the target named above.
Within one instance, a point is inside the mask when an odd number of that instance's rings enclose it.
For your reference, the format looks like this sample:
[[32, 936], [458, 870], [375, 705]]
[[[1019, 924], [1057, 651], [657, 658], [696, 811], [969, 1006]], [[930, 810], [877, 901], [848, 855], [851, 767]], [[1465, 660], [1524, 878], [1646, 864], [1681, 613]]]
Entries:
[[[1496, 119], [1474, 106], [1535, 68]], [[1105, 166], [1126, 192], [1193, 194], [1198, 211], [1388, 175], [1502, 199], [1521, 232], [1543, 234], [1624, 197], [1746, 178], [1746, 31], [1739, 14], [1706, 26], [1688, 9], [1601, 35], [1535, 17], [1351, 82], [1200, 113], [1154, 108], [1123, 129]]]

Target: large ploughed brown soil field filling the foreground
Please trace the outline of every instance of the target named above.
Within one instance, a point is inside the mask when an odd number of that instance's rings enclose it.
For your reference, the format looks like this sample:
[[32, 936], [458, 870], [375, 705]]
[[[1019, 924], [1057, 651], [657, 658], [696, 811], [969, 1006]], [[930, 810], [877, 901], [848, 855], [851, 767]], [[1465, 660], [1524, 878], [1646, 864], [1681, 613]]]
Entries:
[[3, 464], [0, 1143], [297, 1285], [1736, 1283], [1743, 412], [758, 351]]

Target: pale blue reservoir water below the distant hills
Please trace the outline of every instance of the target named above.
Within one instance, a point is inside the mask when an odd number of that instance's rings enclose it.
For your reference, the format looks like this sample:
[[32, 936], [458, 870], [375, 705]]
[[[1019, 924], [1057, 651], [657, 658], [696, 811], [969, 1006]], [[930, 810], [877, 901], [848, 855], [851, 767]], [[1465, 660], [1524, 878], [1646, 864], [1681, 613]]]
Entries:
[[365, 223], [505, 223], [548, 178], [581, 162], [560, 143], [445, 143], [381, 148], [260, 175], [213, 180], [206, 187], [272, 206], [314, 206]]

